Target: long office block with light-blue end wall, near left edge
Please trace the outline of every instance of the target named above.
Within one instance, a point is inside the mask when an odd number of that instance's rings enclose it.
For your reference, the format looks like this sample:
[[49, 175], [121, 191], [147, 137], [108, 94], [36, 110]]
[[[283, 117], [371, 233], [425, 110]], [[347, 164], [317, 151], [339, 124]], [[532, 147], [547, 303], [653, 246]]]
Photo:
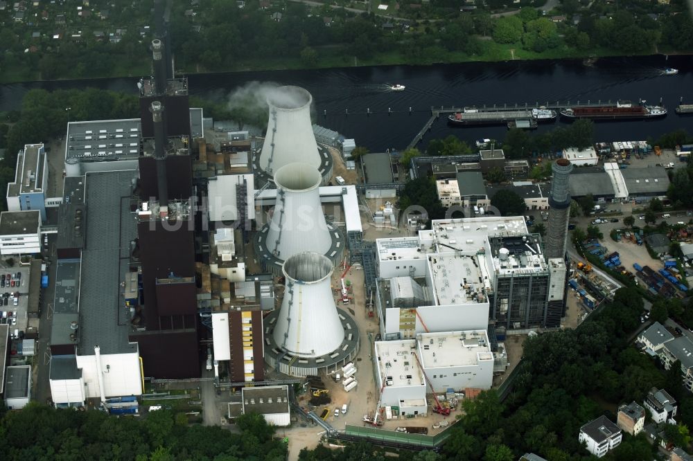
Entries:
[[48, 159], [43, 144], [27, 144], [17, 154], [15, 181], [7, 185], [8, 211], [40, 210], [46, 220]]

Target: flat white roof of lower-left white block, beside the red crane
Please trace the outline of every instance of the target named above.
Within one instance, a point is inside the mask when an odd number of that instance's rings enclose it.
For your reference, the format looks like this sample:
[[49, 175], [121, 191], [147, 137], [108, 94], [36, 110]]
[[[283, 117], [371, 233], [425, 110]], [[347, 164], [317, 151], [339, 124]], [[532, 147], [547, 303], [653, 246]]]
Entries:
[[391, 381], [389, 386], [424, 386], [423, 372], [412, 354], [416, 350], [416, 340], [376, 341], [375, 351], [380, 374], [380, 386], [383, 381]]

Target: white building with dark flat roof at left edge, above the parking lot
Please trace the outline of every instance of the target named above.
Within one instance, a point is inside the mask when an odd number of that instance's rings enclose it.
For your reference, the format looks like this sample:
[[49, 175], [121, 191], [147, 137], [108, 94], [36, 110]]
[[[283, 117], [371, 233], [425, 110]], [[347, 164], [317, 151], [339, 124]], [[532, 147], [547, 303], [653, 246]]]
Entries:
[[7, 256], [40, 252], [40, 210], [0, 213], [0, 254]]

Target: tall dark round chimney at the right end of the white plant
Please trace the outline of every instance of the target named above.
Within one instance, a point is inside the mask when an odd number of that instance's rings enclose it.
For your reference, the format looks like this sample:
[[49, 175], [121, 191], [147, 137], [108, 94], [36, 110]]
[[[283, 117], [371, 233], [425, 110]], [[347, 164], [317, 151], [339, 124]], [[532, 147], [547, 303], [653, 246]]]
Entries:
[[565, 257], [565, 241], [568, 238], [568, 219], [570, 218], [570, 188], [568, 178], [572, 164], [568, 159], [558, 159], [552, 165], [554, 178], [549, 195], [549, 221], [545, 239], [545, 257]]

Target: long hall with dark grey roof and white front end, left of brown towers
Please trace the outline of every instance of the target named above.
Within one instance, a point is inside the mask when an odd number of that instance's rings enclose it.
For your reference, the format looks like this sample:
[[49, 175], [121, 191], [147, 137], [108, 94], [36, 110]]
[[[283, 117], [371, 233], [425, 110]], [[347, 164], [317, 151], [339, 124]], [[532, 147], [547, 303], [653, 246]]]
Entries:
[[139, 347], [128, 339], [132, 313], [121, 292], [130, 270], [130, 242], [137, 236], [130, 211], [136, 179], [137, 171], [123, 171], [88, 173], [84, 184], [66, 181], [79, 190], [66, 189], [73, 202], [61, 207], [73, 209], [83, 194], [89, 212], [78, 215], [59, 240], [60, 254], [67, 257], [58, 257], [50, 336], [55, 406], [143, 391]]

